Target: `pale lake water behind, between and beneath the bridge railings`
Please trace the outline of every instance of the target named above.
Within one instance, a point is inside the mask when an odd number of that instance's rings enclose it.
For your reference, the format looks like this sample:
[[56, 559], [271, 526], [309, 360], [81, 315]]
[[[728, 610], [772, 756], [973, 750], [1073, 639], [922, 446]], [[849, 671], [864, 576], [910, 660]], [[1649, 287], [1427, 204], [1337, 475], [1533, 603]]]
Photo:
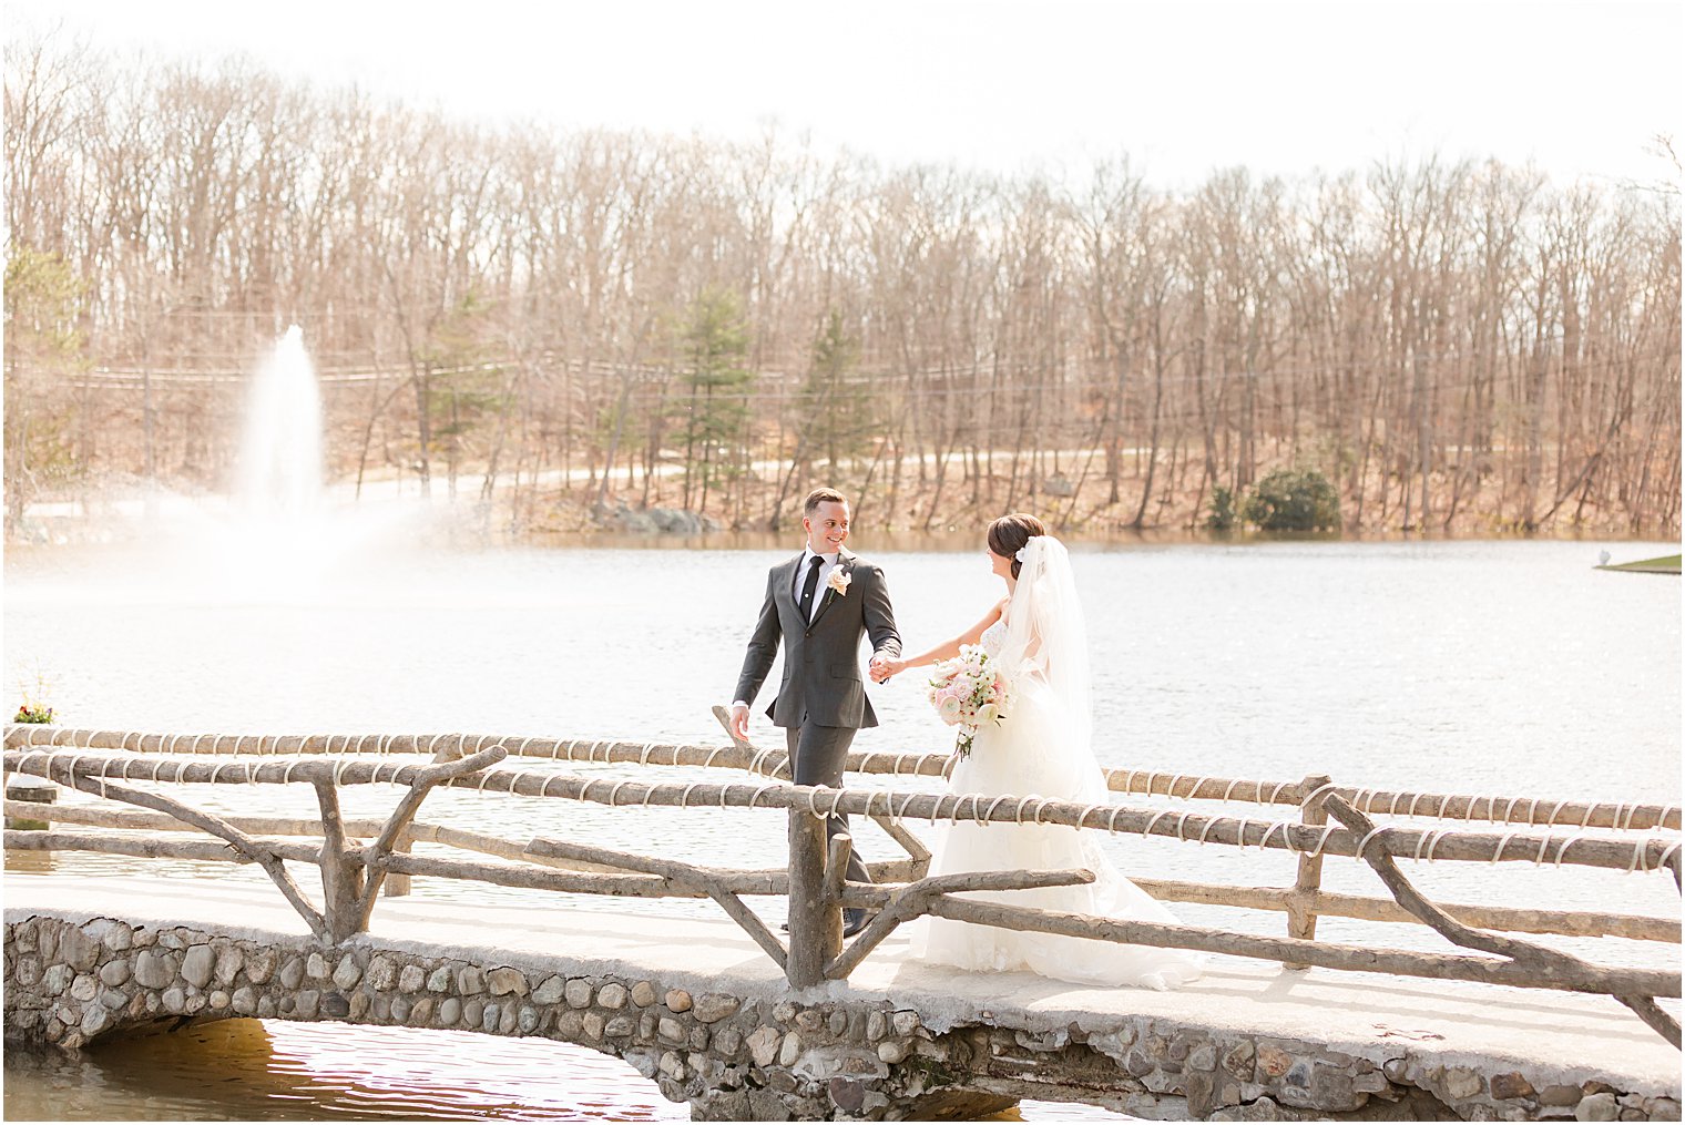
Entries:
[[[912, 652], [959, 632], [1001, 594], [981, 544], [875, 549], [861, 532], [851, 547], [885, 566]], [[278, 541], [241, 552], [197, 541], [168, 551], [12, 551], [7, 706], [40, 680], [66, 726], [718, 744], [709, 707], [730, 701], [767, 568], [794, 549], [465, 552]], [[1677, 551], [1621, 544], [1618, 554]], [[1680, 583], [1594, 571], [1596, 552], [1596, 544], [1515, 541], [1075, 544], [1097, 753], [1109, 766], [1185, 775], [1296, 780], [1321, 771], [1361, 786], [1678, 802]], [[952, 744], [917, 679], [903, 679], [912, 682], [871, 689], [881, 726], [863, 731], [856, 748]], [[752, 738], [782, 744], [758, 712]], [[209, 788], [192, 798], [253, 808], [244, 790]], [[263, 800], [298, 815], [315, 808], [308, 786], [265, 786]], [[396, 790], [359, 786], [347, 813], [384, 815], [394, 800]], [[556, 832], [563, 815], [570, 835], [696, 862], [730, 862], [745, 847], [782, 850], [784, 839], [782, 818], [740, 810], [563, 813], [558, 802], [448, 792], [423, 808], [425, 820], [495, 825], [509, 837]], [[928, 835], [928, 825], [908, 827]], [[858, 837], [871, 857], [895, 854], [876, 829], [858, 829]], [[1292, 861], [1282, 856], [1141, 839], [1114, 839], [1109, 849], [1144, 876], [1292, 881]], [[263, 881], [256, 871], [209, 864], [51, 862], [57, 871]], [[1527, 864], [1414, 864], [1410, 874], [1446, 901], [1678, 911], [1672, 881], [1655, 874]], [[20, 869], [7, 874], [24, 877]], [[1350, 862], [1329, 862], [1324, 877], [1336, 891], [1378, 893], [1373, 876]], [[531, 901], [522, 896], [532, 893], [418, 879], [415, 894], [470, 903]], [[580, 898], [576, 906], [623, 903]], [[696, 901], [640, 908], [713, 909]], [[1265, 933], [1284, 925], [1225, 908], [1176, 911], [1200, 925]], [[1318, 936], [1441, 948], [1417, 928], [1341, 920], [1323, 920]], [[1602, 960], [1677, 965], [1677, 946], [1562, 945]], [[57, 1118], [684, 1117], [684, 1106], [667, 1105], [630, 1068], [548, 1042], [447, 1042], [435, 1032], [329, 1024], [206, 1029], [201, 1041], [209, 1046], [133, 1046], [78, 1061], [8, 1053], [7, 1117], [42, 1108]], [[224, 1056], [239, 1063], [217, 1061]], [[1095, 1112], [1028, 1103], [1023, 1115]]]

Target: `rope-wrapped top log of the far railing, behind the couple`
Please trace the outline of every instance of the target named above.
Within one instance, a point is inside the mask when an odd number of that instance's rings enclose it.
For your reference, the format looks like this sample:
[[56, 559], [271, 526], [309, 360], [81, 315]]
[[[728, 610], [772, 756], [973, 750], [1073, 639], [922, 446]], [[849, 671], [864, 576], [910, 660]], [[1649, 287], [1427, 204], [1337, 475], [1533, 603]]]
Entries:
[[[716, 707], [718, 714], [723, 709]], [[125, 749], [130, 753], [275, 756], [275, 754], [440, 754], [477, 753], [487, 746], [504, 746], [511, 758], [549, 761], [637, 763], [661, 766], [711, 766], [748, 770], [768, 776], [789, 776], [784, 749], [757, 749], [748, 743], [693, 744], [639, 743], [617, 739], [558, 739], [524, 734], [150, 734], [135, 731], [98, 731], [8, 724], [7, 749], [25, 746], [62, 746], [83, 749]], [[890, 776], [945, 776], [952, 754], [853, 751], [849, 773]], [[1107, 770], [1114, 793], [1169, 797], [1174, 800], [1210, 800], [1252, 805], [1301, 805], [1308, 792], [1304, 780], [1247, 780], [1169, 773], [1158, 770]], [[1549, 797], [1419, 793], [1331, 786], [1363, 813], [1387, 817], [1463, 820], [1484, 824], [1527, 824], [1616, 832], [1645, 829], [1680, 829], [1680, 807], [1650, 802], [1582, 802]]]

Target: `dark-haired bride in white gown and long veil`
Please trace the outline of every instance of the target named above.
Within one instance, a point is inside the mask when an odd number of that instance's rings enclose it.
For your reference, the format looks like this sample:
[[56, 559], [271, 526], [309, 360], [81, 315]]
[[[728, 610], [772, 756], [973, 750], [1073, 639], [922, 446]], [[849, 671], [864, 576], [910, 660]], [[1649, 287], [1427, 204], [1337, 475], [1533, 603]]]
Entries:
[[[989, 557], [1008, 596], [959, 637], [907, 660], [881, 660], [895, 675], [981, 645], [1008, 675], [1013, 697], [999, 722], [984, 724], [971, 753], [954, 765], [952, 793], [1038, 795], [1105, 803], [1105, 776], [1090, 748], [1089, 653], [1065, 544], [1033, 515], [1004, 515], [989, 525]], [[1085, 886], [967, 893], [1018, 906], [1100, 918], [1176, 918], [1126, 879], [1100, 852], [1094, 832], [1058, 825], [957, 822], [939, 829], [930, 874], [1087, 867]], [[923, 918], [913, 928], [913, 957], [969, 970], [1030, 970], [1095, 985], [1168, 989], [1200, 975], [1183, 950], [1122, 945], [1050, 933]]]

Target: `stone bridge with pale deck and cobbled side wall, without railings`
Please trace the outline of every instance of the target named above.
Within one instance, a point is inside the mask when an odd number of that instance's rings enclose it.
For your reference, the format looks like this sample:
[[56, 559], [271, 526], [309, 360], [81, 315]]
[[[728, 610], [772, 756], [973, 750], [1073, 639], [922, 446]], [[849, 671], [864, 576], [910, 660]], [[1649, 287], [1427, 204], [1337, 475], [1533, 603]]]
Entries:
[[1223, 957], [1183, 990], [1107, 990], [912, 963], [900, 936], [792, 994], [725, 918], [388, 898], [367, 935], [322, 946], [273, 888], [148, 877], [7, 872], [5, 923], [13, 1039], [72, 1017], [472, 1026], [620, 1054], [698, 1117], [760, 1120], [1018, 1096], [1213, 1120], [1678, 1120], [1678, 1051], [1607, 997]]

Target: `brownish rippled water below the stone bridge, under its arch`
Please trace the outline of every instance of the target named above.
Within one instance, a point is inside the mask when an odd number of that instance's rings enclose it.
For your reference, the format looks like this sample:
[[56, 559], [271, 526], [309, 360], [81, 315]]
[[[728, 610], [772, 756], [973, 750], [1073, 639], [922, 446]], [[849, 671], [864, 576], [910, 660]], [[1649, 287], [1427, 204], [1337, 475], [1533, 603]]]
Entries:
[[[8, 1122], [687, 1122], [632, 1066], [546, 1039], [226, 1019], [5, 1053]], [[987, 1120], [1129, 1120], [1026, 1101]]]

